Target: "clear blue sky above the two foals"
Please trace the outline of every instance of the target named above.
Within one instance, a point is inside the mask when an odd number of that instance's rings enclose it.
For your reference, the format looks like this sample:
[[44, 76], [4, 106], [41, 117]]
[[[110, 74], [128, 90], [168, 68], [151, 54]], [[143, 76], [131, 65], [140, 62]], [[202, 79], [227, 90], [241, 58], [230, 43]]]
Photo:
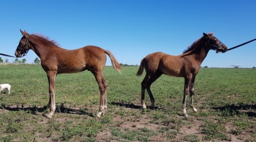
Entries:
[[[256, 38], [254, 0], [10, 0], [0, 5], [0, 53], [9, 55], [22, 38], [20, 29], [41, 33], [69, 50], [99, 46], [119, 63], [133, 65], [152, 52], [182, 54], [203, 32], [213, 32], [228, 48]], [[256, 41], [224, 54], [210, 51], [201, 66], [252, 68], [255, 54]], [[32, 50], [24, 56], [27, 63], [36, 57]]]

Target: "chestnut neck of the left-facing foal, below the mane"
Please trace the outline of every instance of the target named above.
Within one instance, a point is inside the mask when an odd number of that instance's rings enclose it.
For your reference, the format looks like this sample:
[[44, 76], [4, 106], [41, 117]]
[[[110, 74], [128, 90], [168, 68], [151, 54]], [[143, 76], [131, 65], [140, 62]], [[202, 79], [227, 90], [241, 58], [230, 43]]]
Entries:
[[48, 47], [44, 43], [42, 43], [41, 40], [38, 40], [36, 36], [30, 36], [29, 41], [32, 45], [32, 50], [39, 58], [42, 58], [42, 56], [46, 55], [46, 53], [48, 52]]

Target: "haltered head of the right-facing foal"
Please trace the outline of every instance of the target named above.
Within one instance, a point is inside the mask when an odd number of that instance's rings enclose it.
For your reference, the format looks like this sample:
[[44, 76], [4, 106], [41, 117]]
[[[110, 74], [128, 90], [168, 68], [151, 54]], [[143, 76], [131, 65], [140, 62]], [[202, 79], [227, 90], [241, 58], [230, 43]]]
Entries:
[[212, 36], [212, 33], [203, 33], [203, 36], [207, 40], [207, 45], [210, 47], [210, 50], [215, 50], [216, 53], [219, 52], [227, 52], [228, 48], [225, 46], [225, 44], [222, 44], [220, 40], [218, 40], [216, 37]]

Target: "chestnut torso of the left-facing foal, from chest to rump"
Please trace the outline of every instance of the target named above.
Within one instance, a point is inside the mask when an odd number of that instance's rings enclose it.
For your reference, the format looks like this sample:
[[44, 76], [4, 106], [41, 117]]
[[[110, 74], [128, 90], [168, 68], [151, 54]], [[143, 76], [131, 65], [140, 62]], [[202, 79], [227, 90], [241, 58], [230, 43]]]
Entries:
[[103, 70], [106, 64], [106, 54], [97, 46], [85, 46], [76, 50], [59, 49], [48, 57], [42, 60], [42, 68], [46, 72], [57, 70], [58, 74]]

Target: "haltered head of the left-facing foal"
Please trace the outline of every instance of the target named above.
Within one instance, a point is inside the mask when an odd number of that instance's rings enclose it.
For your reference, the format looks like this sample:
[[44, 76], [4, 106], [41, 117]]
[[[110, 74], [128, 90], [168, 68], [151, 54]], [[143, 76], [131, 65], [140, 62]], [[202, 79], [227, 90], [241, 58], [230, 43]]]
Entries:
[[20, 43], [15, 51], [15, 56], [17, 58], [26, 56], [26, 54], [28, 53], [28, 50], [31, 49], [31, 45], [30, 42], [28, 41], [28, 37], [30, 36], [30, 34], [28, 34], [25, 30], [22, 31], [20, 29], [20, 32], [22, 33], [22, 39], [20, 39]]

